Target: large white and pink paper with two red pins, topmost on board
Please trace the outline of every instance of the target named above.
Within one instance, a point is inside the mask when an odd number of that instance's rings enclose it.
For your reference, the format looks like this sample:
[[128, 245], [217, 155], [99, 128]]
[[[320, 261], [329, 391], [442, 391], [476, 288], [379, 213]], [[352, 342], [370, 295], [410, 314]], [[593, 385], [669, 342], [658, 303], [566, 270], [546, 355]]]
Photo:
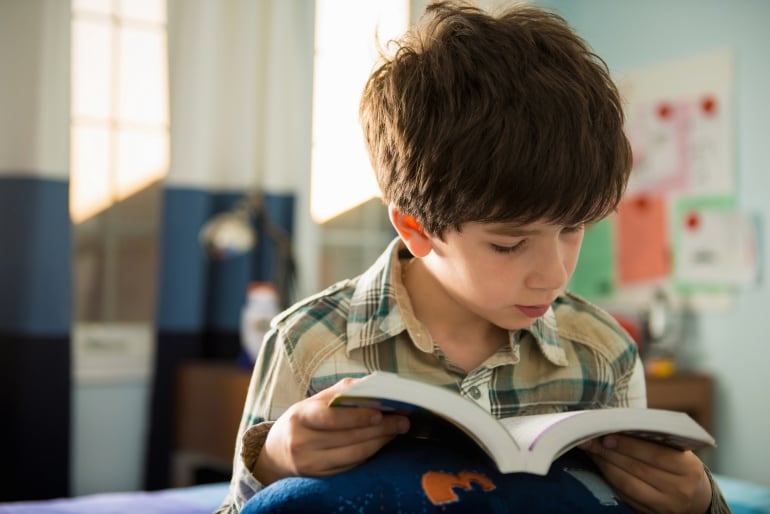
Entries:
[[732, 69], [720, 51], [619, 79], [634, 152], [629, 194], [734, 194]]

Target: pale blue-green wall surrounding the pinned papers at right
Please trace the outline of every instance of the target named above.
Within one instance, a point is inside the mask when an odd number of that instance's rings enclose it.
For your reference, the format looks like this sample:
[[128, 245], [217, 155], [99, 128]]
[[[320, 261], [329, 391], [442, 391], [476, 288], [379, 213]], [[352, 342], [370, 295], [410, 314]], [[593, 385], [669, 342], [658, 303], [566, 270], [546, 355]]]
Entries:
[[[764, 0], [551, 0], [613, 73], [727, 49], [735, 56], [735, 165], [739, 205], [770, 220], [770, 2]], [[766, 229], [765, 229], [766, 230]], [[764, 238], [767, 234], [762, 235]], [[763, 255], [767, 269], [770, 255]], [[770, 284], [731, 310], [697, 321], [700, 366], [717, 384], [719, 473], [770, 485]]]

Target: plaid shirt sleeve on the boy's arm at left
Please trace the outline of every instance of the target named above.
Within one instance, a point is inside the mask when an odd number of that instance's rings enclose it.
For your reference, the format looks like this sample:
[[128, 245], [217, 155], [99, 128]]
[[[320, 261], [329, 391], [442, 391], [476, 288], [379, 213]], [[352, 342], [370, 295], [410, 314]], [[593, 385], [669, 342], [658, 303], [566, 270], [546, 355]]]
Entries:
[[249, 382], [246, 403], [235, 441], [230, 490], [217, 514], [234, 514], [264, 488], [253, 475], [273, 422], [291, 405], [306, 398], [300, 377], [290, 365], [280, 330], [265, 336]]

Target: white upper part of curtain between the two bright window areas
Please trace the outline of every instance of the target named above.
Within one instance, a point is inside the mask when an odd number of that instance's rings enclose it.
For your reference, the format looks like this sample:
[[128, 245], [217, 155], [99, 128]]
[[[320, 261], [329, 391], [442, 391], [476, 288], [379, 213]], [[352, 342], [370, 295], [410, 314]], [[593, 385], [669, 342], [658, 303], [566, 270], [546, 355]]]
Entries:
[[310, 163], [314, 10], [169, 0], [169, 185], [296, 191]]

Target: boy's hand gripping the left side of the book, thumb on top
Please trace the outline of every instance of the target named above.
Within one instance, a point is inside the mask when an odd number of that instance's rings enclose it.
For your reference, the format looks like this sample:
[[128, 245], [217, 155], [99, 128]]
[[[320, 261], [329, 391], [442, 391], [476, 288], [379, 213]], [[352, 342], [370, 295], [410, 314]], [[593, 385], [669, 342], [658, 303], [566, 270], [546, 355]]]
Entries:
[[325, 476], [353, 468], [396, 435], [409, 430], [404, 416], [376, 409], [329, 407], [355, 379], [292, 405], [270, 428], [254, 475], [267, 485], [290, 476]]

